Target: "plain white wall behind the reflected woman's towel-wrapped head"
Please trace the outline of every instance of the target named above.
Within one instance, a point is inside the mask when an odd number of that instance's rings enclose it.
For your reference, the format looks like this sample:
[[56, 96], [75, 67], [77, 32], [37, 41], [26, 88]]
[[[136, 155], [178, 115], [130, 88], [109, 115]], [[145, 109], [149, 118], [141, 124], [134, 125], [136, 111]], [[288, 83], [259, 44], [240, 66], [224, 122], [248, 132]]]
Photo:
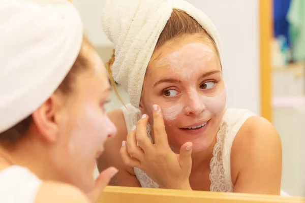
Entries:
[[[220, 32], [227, 107], [246, 108], [260, 114], [258, 0], [188, 1], [204, 11]], [[73, 2], [81, 13], [89, 40], [95, 46], [111, 45], [101, 27], [105, 0]]]

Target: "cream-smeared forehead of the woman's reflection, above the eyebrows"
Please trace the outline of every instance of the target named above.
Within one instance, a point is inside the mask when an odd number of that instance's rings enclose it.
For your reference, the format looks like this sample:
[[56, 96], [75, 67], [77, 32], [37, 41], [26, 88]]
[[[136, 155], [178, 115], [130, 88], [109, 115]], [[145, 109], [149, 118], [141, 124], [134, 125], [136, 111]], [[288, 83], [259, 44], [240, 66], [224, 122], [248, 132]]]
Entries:
[[150, 60], [147, 73], [151, 76], [154, 73], [162, 75], [209, 70], [221, 71], [216, 50], [207, 43], [194, 40], [173, 42], [157, 50]]

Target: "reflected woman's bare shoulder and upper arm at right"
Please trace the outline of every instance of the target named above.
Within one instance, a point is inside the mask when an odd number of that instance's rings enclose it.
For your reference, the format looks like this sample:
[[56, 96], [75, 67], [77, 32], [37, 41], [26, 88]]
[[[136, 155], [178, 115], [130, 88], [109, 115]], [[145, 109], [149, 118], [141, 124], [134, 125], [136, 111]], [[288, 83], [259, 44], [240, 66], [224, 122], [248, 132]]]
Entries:
[[231, 150], [234, 192], [280, 195], [282, 146], [273, 125], [258, 116], [239, 129]]

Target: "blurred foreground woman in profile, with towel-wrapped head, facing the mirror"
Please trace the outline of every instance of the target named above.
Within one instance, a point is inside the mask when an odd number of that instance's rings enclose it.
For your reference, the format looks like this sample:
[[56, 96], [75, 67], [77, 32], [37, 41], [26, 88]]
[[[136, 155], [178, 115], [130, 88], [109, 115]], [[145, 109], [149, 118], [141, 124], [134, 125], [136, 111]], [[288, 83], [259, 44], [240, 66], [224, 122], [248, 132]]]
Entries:
[[117, 172], [93, 179], [116, 128], [78, 12], [66, 0], [1, 1], [0, 27], [0, 202], [96, 201]]

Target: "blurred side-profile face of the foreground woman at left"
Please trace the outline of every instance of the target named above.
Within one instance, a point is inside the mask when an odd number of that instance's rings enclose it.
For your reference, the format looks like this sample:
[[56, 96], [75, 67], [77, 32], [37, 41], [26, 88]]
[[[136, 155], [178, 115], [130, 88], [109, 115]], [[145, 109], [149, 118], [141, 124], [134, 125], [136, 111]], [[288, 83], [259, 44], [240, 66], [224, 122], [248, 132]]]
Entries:
[[93, 189], [96, 159], [106, 139], [116, 134], [104, 109], [111, 90], [105, 67], [94, 50], [87, 53], [91, 67], [76, 76], [58, 115], [59, 140], [52, 157], [59, 180], [84, 191]]

